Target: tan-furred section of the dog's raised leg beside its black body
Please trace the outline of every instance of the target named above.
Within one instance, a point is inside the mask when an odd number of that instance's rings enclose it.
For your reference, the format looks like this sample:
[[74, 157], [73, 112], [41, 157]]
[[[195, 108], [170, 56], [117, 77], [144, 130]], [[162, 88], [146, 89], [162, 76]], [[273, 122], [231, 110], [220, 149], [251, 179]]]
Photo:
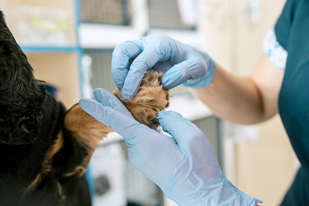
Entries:
[[100, 141], [113, 130], [83, 111], [78, 104], [74, 105], [67, 112], [64, 119], [64, 128], [70, 134], [69, 136], [86, 150], [87, 154], [83, 157], [81, 164], [77, 165], [74, 171], [66, 175], [82, 175]]

